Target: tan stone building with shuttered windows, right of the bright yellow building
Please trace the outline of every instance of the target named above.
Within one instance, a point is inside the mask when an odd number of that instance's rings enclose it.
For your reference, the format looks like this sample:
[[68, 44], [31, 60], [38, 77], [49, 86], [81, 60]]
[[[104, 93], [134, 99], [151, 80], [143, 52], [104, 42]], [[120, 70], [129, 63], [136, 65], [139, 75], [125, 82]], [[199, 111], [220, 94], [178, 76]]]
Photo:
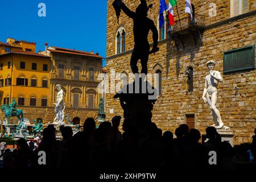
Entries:
[[102, 72], [102, 57], [98, 53], [77, 51], [50, 46], [47, 52], [51, 57], [49, 106], [46, 122], [55, 118], [55, 86], [60, 84], [64, 91], [65, 116], [76, 125], [83, 125], [88, 117], [97, 120], [101, 94], [98, 93], [98, 75]]

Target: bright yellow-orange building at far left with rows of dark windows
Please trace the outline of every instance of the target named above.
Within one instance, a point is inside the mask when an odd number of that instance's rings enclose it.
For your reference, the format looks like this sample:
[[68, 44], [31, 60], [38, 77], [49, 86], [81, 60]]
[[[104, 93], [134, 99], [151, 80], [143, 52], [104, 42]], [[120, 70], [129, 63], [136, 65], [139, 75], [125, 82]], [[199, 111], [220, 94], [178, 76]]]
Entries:
[[[12, 43], [6, 47], [14, 48]], [[23, 51], [26, 48], [32, 51]], [[30, 121], [44, 119], [48, 106], [51, 59], [33, 52], [35, 43], [20, 47], [20, 50], [0, 55], [0, 104], [10, 104], [14, 98], [18, 108], [23, 109], [25, 118]]]

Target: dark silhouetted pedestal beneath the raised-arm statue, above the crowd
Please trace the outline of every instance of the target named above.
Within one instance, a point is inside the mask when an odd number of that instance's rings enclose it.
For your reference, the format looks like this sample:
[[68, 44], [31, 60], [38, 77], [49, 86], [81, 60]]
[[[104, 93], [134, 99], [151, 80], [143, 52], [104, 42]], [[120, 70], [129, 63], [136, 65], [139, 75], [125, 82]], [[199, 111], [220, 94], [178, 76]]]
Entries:
[[157, 96], [158, 91], [149, 82], [139, 78], [125, 85], [115, 94], [114, 98], [119, 98], [125, 122], [134, 123], [139, 130], [144, 130], [151, 123], [152, 110]]

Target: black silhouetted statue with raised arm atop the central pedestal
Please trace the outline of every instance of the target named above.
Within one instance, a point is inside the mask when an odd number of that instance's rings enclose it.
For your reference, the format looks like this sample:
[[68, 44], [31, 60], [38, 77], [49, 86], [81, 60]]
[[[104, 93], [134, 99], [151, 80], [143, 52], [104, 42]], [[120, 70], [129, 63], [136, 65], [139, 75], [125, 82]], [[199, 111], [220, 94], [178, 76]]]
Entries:
[[[142, 70], [141, 73], [147, 75], [147, 61], [150, 53], [159, 51], [158, 48], [158, 30], [155, 27], [154, 22], [147, 18], [148, 6], [146, 0], [141, 0], [141, 4], [137, 7], [136, 11], [133, 12], [128, 9], [121, 0], [115, 0], [114, 5], [117, 5], [119, 9], [133, 19], [133, 33], [134, 33], [134, 49], [131, 55], [130, 67], [131, 71], [139, 73], [137, 67], [138, 60], [141, 59]], [[115, 10], [117, 10], [115, 6]], [[119, 10], [117, 10], [119, 11]], [[150, 51], [150, 45], [147, 40], [149, 31], [153, 33], [153, 47]]]

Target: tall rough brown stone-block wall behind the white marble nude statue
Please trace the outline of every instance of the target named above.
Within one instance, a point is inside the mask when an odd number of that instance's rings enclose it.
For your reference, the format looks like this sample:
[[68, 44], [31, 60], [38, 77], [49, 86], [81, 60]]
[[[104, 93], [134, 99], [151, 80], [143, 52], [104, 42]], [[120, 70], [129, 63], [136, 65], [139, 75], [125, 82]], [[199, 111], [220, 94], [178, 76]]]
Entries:
[[[139, 1], [123, 0], [125, 5], [135, 11]], [[168, 1], [166, 1], [168, 2]], [[218, 109], [225, 125], [230, 126], [234, 132], [234, 144], [251, 142], [251, 136], [256, 127], [256, 72], [255, 72], [255, 39], [256, 39], [256, 2], [234, 0], [206, 0], [191, 1], [195, 6], [196, 17], [204, 17], [195, 34], [181, 33], [168, 36], [167, 25], [164, 35], [159, 29], [159, 52], [150, 55], [148, 60], [148, 73], [161, 73], [162, 94], [154, 105], [152, 121], [163, 131], [175, 132], [181, 123], [187, 123], [190, 127], [199, 129], [205, 133], [205, 129], [213, 124], [213, 118], [208, 104], [204, 104], [203, 95], [205, 76], [208, 75], [207, 61], [216, 61], [215, 70], [220, 71], [224, 81], [218, 86]], [[238, 3], [237, 3], [238, 2]], [[122, 12], [119, 24], [112, 6], [113, 1], [108, 0], [107, 15], [107, 58], [106, 72], [125, 73], [130, 70], [130, 57], [133, 51], [133, 20], [127, 18]], [[147, 1], [153, 4], [148, 11], [148, 18], [154, 20], [158, 27], [159, 1]], [[167, 4], [168, 5], [168, 4]], [[177, 9], [182, 22], [190, 22], [190, 15], [184, 13], [185, 1], [177, 1]], [[174, 9], [175, 25], [179, 26], [177, 10]], [[183, 24], [180, 23], [180, 26]], [[166, 23], [167, 24], [167, 23]], [[122, 28], [125, 32], [125, 40], [121, 41], [125, 51], [118, 47], [117, 32]], [[175, 27], [172, 27], [175, 28]], [[181, 28], [182, 29], [182, 28]], [[174, 29], [172, 29], [174, 33]], [[120, 40], [120, 39], [119, 39]], [[152, 43], [152, 34], [148, 36]], [[176, 44], [175, 44], [176, 43]], [[243, 49], [250, 49], [242, 52]], [[236, 56], [232, 51], [238, 52]], [[120, 52], [120, 53], [119, 53]], [[225, 55], [232, 55], [226, 58]], [[239, 55], [240, 53], [240, 55]], [[250, 62], [237, 64], [237, 60], [244, 55]], [[239, 57], [240, 56], [240, 57]], [[247, 56], [247, 57], [246, 57]], [[231, 61], [231, 62], [230, 62]], [[232, 63], [236, 63], [233, 65]], [[140, 63], [138, 63], [139, 68]], [[235, 68], [236, 67], [236, 68]], [[248, 69], [249, 68], [249, 69]], [[114, 77], [112, 76], [112, 79]], [[154, 79], [153, 79], [154, 80]], [[109, 79], [109, 83], [111, 78]], [[115, 81], [117, 84], [119, 81]], [[110, 84], [109, 84], [110, 85]], [[114, 92], [106, 94], [106, 115], [110, 120], [114, 115], [122, 115], [123, 111], [118, 100], [114, 100]], [[116, 90], [115, 90], [116, 91]]]

